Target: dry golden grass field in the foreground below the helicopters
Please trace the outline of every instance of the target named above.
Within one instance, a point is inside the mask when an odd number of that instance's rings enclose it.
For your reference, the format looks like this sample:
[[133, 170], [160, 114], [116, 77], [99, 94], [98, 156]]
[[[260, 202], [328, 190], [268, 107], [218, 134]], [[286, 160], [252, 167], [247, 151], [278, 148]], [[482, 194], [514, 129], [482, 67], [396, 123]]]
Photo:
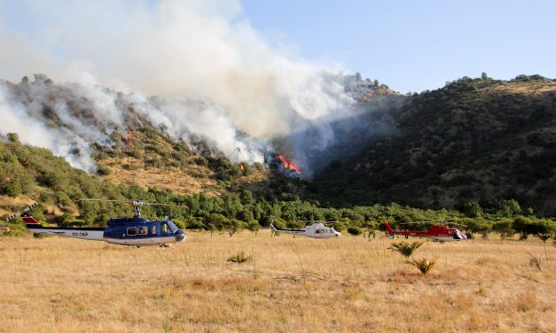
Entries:
[[[416, 256], [438, 261], [421, 275], [391, 242], [189, 232], [159, 250], [2, 237], [0, 331], [556, 331], [552, 244], [429, 242]], [[253, 259], [227, 261], [241, 250]]]

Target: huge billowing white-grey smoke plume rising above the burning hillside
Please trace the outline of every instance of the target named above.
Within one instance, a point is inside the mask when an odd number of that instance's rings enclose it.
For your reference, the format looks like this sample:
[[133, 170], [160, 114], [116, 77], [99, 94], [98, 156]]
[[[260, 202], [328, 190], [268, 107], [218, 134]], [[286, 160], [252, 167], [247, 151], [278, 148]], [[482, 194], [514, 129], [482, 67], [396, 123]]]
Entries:
[[[57, 129], [39, 107], [49, 102], [48, 86], [33, 84], [28, 105], [4, 91], [0, 106], [11, 125], [0, 131], [18, 132], [21, 141], [51, 149], [75, 167], [94, 170], [87, 143], [106, 143], [111, 130], [124, 128], [127, 109], [118, 107], [117, 93], [100, 87], [123, 92], [126, 103], [174, 138], [191, 143], [200, 137], [233, 161], [262, 162], [279, 136], [288, 138], [290, 157], [310, 169], [307, 152], [330, 147], [337, 141], [331, 124], [351, 116], [346, 110], [355, 101], [341, 75], [330, 74], [341, 66], [310, 64], [292, 48], [271, 43], [241, 15], [238, 1], [21, 5], [27, 15], [21, 19], [32, 21], [32, 28], [0, 30], [0, 77], [19, 81], [46, 73], [75, 83], [57, 85], [64, 88], [51, 110], [63, 124]], [[0, 12], [8, 7], [0, 3]], [[161, 98], [153, 101], [153, 95]], [[69, 101], [86, 101], [103, 123], [72, 114]], [[38, 136], [22, 130], [29, 121], [22, 113], [33, 117]], [[299, 135], [308, 128], [310, 135]], [[82, 154], [68, 154], [71, 147]]]

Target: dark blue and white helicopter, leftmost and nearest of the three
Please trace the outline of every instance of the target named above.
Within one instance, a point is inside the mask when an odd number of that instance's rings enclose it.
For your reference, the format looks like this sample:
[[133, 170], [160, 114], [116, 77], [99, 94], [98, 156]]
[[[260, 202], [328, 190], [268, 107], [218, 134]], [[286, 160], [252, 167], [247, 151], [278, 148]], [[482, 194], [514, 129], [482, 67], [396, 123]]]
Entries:
[[106, 228], [51, 228], [43, 227], [41, 222], [28, 213], [36, 205], [34, 204], [27, 206], [20, 213], [13, 214], [8, 218], [8, 221], [20, 215], [28, 230], [34, 234], [66, 236], [93, 241], [105, 241], [111, 244], [135, 245], [137, 247], [145, 245], [165, 246], [185, 240], [185, 231], [177, 228], [176, 224], [171, 220], [150, 221], [141, 217], [141, 207], [143, 205], [163, 204], [129, 200], [82, 199], [82, 201], [108, 201], [132, 204], [135, 216], [132, 218], [110, 219]]

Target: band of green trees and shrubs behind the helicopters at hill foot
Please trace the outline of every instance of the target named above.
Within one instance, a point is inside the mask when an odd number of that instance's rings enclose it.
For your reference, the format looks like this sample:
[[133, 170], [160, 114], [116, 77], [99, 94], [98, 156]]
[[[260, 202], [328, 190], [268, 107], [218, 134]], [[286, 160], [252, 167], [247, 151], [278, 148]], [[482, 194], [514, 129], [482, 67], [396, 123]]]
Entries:
[[[317, 201], [300, 200], [298, 197], [258, 195], [250, 190], [229, 190], [219, 196], [206, 193], [180, 195], [171, 190], [143, 189], [134, 183], [114, 184], [98, 175], [89, 175], [70, 167], [64, 159], [52, 156], [50, 151], [29, 147], [17, 142], [0, 143], [0, 195], [26, 197], [17, 205], [5, 206], [4, 215], [15, 213], [24, 203], [37, 201], [40, 205], [33, 214], [42, 221], [59, 226], [105, 226], [110, 218], [129, 216], [128, 205], [105, 202], [82, 202], [80, 198], [105, 198], [116, 200], [141, 199], [169, 206], [145, 206], [147, 217], [169, 216], [182, 228], [202, 228], [210, 231], [226, 230], [233, 235], [242, 228], [257, 231], [261, 226], [277, 221], [284, 227], [301, 227], [299, 221], [339, 221], [334, 228], [348, 227], [369, 231], [382, 228], [383, 221], [403, 223], [410, 221], [450, 220], [468, 225], [468, 232], [487, 236], [497, 231], [505, 236], [520, 233], [552, 235], [553, 221], [535, 216], [519, 216], [521, 209], [515, 202], [506, 203], [505, 209], [494, 214], [483, 213], [474, 219], [465, 214], [448, 210], [421, 210], [396, 204], [331, 208]], [[469, 207], [472, 212], [474, 207]], [[467, 214], [470, 214], [467, 212]], [[233, 230], [233, 232], [231, 232]]]

